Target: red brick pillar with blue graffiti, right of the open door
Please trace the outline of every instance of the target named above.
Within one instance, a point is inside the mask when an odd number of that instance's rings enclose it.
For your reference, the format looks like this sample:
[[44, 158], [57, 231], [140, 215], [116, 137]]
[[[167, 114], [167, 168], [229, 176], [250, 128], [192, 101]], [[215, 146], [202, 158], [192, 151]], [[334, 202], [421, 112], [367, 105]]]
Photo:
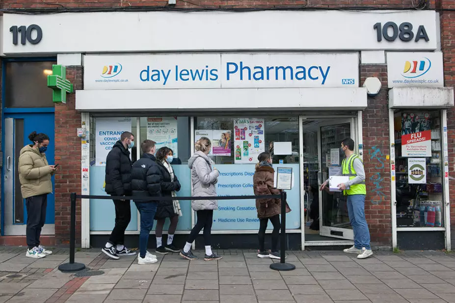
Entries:
[[376, 77], [382, 87], [379, 94], [368, 97], [363, 111], [363, 160], [367, 198], [365, 214], [370, 227], [371, 241], [392, 245], [392, 213], [390, 197], [389, 108], [386, 65], [361, 65], [360, 84], [368, 77]]

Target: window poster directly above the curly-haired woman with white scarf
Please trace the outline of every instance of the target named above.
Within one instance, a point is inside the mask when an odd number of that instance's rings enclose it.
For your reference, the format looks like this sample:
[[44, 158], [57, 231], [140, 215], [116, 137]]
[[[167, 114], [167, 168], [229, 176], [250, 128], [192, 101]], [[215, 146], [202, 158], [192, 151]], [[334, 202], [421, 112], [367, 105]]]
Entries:
[[177, 158], [177, 117], [148, 117], [147, 139], [156, 142], [157, 150], [169, 147]]

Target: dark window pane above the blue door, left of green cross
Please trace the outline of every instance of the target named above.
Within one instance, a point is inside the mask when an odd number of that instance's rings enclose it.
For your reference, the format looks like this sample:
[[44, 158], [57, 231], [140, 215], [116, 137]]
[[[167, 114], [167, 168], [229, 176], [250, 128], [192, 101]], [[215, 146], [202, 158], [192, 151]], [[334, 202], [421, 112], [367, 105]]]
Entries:
[[57, 62], [7, 62], [5, 64], [5, 107], [54, 107], [47, 76]]

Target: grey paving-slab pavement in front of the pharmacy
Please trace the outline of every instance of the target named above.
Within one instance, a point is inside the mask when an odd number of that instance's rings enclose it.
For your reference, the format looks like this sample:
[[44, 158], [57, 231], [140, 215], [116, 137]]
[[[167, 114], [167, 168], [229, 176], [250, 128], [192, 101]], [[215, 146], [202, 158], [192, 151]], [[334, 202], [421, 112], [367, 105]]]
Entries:
[[137, 265], [135, 256], [110, 260], [82, 249], [76, 262], [89, 270], [78, 276], [57, 269], [68, 249], [31, 259], [25, 248], [0, 247], [0, 303], [455, 303], [454, 253], [376, 251], [357, 260], [341, 251], [288, 251], [296, 269], [276, 272], [253, 250], [217, 252], [222, 260], [168, 254]]

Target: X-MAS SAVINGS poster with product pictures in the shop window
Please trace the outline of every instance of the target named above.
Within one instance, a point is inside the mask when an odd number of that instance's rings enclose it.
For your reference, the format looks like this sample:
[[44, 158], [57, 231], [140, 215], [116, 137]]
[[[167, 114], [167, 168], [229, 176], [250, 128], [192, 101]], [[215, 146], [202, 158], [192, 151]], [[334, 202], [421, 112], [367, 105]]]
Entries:
[[235, 163], [255, 163], [258, 155], [266, 150], [264, 119], [234, 119]]

